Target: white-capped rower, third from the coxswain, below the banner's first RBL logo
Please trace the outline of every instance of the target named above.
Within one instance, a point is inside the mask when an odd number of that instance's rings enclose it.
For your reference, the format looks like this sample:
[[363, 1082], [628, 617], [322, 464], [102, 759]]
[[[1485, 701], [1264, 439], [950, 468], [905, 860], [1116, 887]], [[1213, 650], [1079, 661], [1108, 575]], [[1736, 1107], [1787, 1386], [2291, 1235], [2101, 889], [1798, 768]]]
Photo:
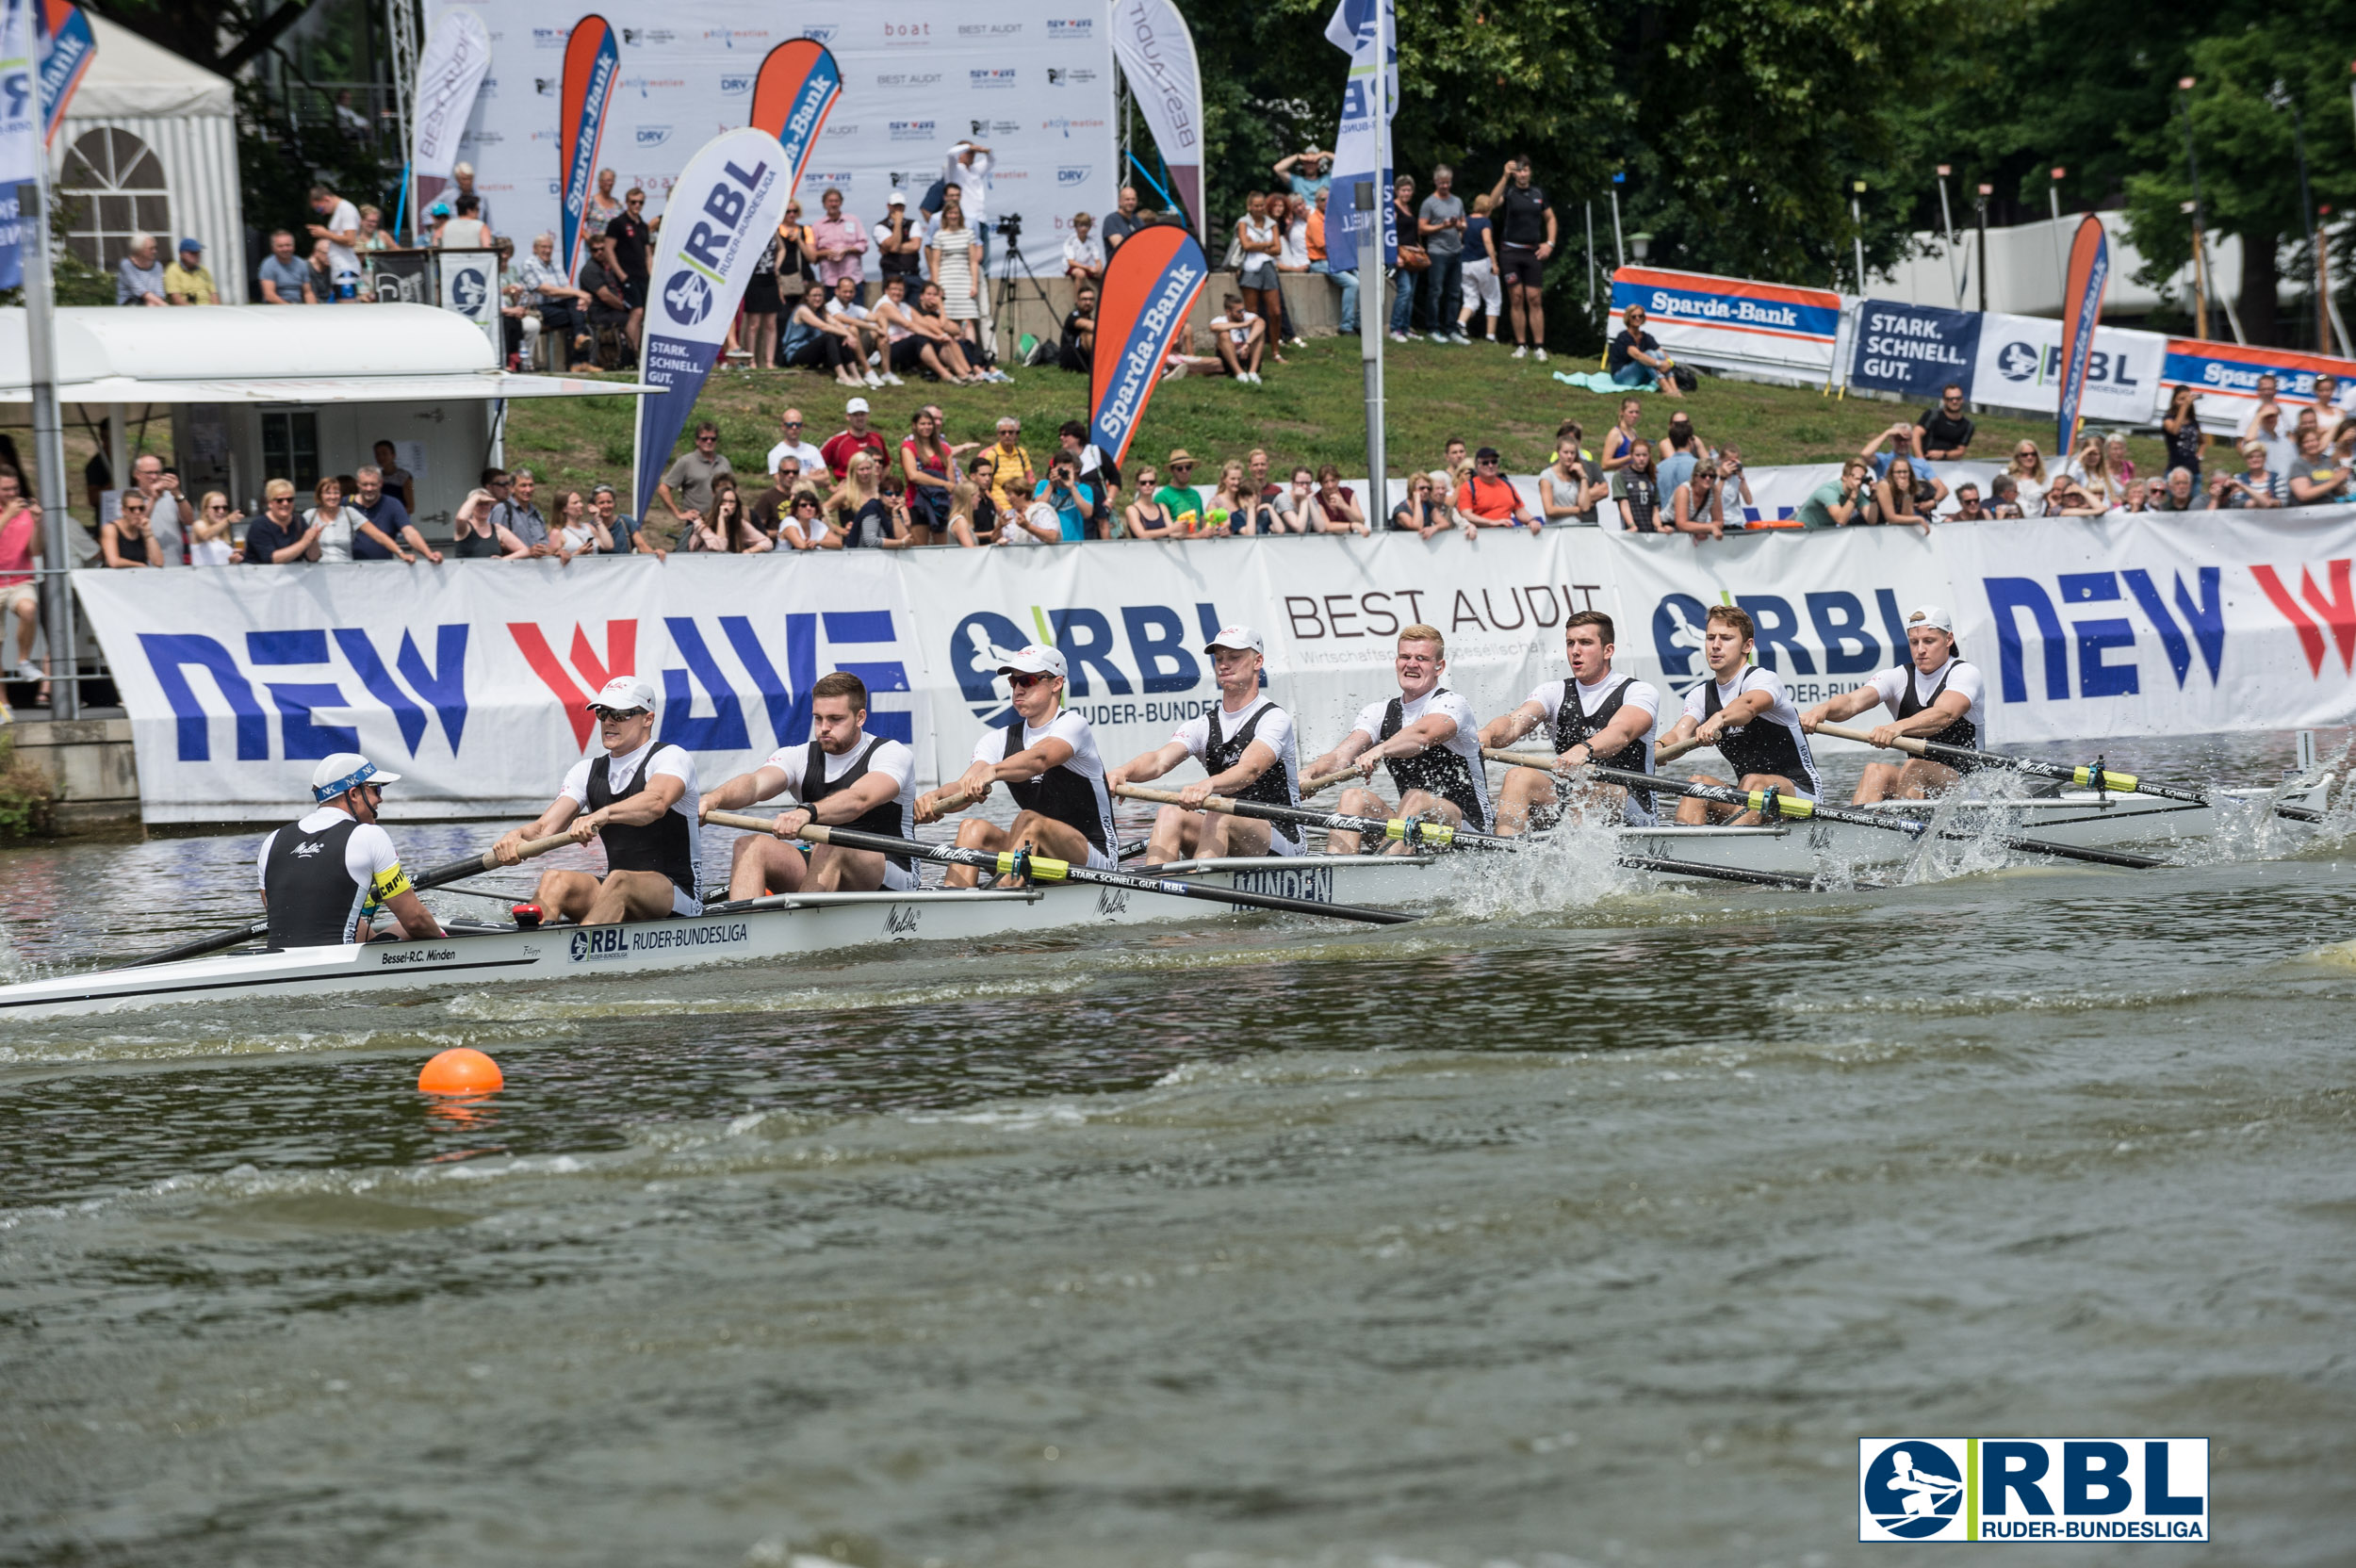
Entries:
[[[1117, 871], [1105, 758], [1096, 751], [1088, 720], [1063, 711], [1063, 655], [1027, 643], [1001, 659], [999, 673], [1013, 695], [1015, 720], [1004, 732], [982, 732], [973, 746], [973, 765], [957, 782], [916, 798], [916, 822], [945, 817], [949, 808], [942, 800], [952, 793], [964, 796], [966, 805], [980, 805], [992, 784], [1004, 784], [1015, 798], [1013, 824], [966, 817], [957, 829], [959, 845], [1027, 850], [1074, 866]], [[945, 885], [971, 888], [978, 876], [973, 866], [949, 866]]]

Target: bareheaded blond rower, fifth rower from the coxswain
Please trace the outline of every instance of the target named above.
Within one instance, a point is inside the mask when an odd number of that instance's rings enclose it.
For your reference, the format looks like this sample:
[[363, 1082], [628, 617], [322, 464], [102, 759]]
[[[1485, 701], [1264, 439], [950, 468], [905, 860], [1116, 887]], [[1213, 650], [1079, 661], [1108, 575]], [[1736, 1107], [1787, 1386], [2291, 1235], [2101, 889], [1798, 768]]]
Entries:
[[[1357, 768], [1371, 779], [1376, 768], [1388, 768], [1402, 815], [1487, 833], [1489, 775], [1480, 756], [1480, 720], [1470, 702], [1440, 685], [1449, 669], [1447, 652], [1437, 626], [1402, 631], [1392, 662], [1399, 695], [1369, 702], [1350, 735], [1310, 763], [1310, 777]], [[1343, 791], [1341, 810], [1352, 817], [1392, 815], [1378, 793], [1359, 786]], [[1326, 855], [1357, 855], [1357, 833], [1326, 833]], [[1407, 855], [1409, 843], [1402, 838], [1385, 852]]]

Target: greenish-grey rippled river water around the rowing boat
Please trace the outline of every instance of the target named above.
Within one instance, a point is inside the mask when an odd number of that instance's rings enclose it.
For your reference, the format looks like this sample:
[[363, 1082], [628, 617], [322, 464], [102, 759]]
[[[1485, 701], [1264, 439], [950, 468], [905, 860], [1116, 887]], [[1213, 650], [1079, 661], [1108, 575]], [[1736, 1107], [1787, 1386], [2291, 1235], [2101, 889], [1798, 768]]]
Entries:
[[[9, 852], [5, 961], [252, 843]], [[2349, 848], [9, 1024], [0, 1561], [1800, 1568], [2029, 1434], [2347, 1563]]]

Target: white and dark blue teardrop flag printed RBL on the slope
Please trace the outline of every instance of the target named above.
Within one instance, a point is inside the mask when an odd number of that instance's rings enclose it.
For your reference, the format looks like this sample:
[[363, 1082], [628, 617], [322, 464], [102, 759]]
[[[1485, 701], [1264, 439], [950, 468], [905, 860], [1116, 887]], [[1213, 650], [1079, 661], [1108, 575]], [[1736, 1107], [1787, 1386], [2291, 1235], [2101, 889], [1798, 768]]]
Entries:
[[638, 379], [660, 391], [638, 398], [636, 516], [655, 499], [679, 431], [688, 424], [754, 261], [785, 217], [787, 167], [777, 137], [756, 125], [721, 132], [688, 160], [671, 186], [655, 240], [646, 301], [646, 356]]

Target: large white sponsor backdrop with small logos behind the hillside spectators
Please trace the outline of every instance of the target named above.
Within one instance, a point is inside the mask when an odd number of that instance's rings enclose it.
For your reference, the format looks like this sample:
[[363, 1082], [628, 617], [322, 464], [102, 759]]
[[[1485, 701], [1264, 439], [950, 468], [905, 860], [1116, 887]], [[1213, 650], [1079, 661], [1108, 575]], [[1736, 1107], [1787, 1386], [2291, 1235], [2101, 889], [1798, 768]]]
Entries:
[[[558, 78], [565, 35], [589, 9], [613, 24], [622, 49], [601, 165], [617, 172], [617, 195], [646, 186], [648, 214], [662, 212], [695, 148], [747, 125], [761, 57], [803, 35], [843, 71], [841, 104], [801, 179], [806, 219], [820, 217], [827, 188], [841, 188], [848, 212], [872, 228], [895, 188], [912, 205], [924, 198], [954, 141], [982, 141], [997, 155], [990, 221], [1020, 212], [1025, 254], [1053, 273], [1070, 217], [1105, 214], [1119, 193], [1100, 5], [429, 0], [426, 9], [429, 21], [476, 12], [490, 28], [490, 75], [459, 158], [476, 167], [497, 231], [518, 240], [558, 226]], [[992, 240], [992, 266], [1001, 254]], [[867, 271], [876, 271], [872, 252]]]

